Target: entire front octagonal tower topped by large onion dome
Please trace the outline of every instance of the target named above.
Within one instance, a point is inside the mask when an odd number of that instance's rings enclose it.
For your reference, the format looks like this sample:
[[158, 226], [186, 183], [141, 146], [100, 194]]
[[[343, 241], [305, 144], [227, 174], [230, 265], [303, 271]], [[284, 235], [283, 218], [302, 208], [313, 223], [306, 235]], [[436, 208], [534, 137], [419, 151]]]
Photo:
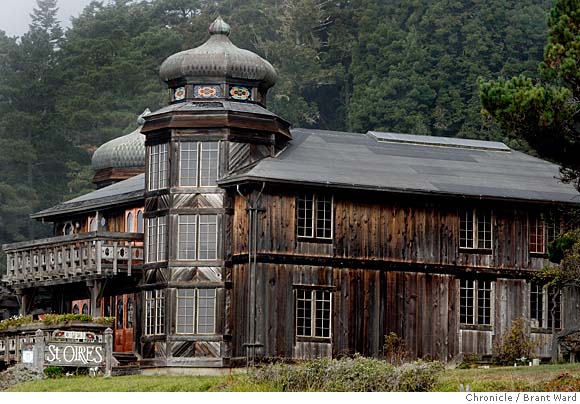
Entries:
[[[229, 366], [236, 193], [219, 183], [291, 140], [290, 124], [266, 108], [277, 77], [272, 65], [235, 46], [219, 17], [209, 34], [163, 62], [169, 105], [147, 115], [141, 129], [145, 366]], [[196, 317], [200, 307], [204, 315]]]

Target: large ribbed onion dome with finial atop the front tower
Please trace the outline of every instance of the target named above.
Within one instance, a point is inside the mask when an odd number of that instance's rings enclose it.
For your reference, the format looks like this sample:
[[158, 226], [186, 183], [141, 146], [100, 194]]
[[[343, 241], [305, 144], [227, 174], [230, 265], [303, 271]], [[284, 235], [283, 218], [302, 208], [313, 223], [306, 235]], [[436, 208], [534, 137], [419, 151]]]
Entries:
[[265, 59], [235, 46], [228, 38], [230, 26], [218, 17], [209, 27], [210, 38], [201, 46], [169, 56], [159, 76], [165, 82], [192, 78], [233, 78], [260, 82], [268, 89], [276, 83], [274, 67]]

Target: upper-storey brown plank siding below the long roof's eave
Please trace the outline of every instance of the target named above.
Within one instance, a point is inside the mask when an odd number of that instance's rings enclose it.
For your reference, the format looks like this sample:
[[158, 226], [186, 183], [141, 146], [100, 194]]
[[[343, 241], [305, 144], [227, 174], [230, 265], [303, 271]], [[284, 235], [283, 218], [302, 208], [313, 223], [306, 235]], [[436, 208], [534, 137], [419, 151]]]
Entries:
[[[418, 199], [418, 198], [417, 198]], [[264, 193], [259, 219], [258, 253], [334, 257], [494, 269], [540, 269], [547, 264], [528, 252], [527, 212], [493, 207], [491, 253], [459, 248], [459, 212], [474, 207], [448, 202], [395, 198], [365, 202], [352, 194], [334, 195], [332, 243], [296, 236], [296, 194]], [[237, 197], [233, 227], [234, 254], [247, 253], [246, 202]]]

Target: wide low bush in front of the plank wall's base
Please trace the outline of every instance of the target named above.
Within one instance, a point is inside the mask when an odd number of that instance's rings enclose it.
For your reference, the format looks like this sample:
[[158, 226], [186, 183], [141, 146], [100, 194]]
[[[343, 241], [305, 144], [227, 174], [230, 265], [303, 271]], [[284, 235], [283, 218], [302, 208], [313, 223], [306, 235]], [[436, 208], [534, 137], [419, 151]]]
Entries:
[[439, 362], [417, 361], [395, 367], [355, 356], [268, 365], [257, 370], [252, 379], [278, 385], [283, 391], [428, 391], [442, 371]]

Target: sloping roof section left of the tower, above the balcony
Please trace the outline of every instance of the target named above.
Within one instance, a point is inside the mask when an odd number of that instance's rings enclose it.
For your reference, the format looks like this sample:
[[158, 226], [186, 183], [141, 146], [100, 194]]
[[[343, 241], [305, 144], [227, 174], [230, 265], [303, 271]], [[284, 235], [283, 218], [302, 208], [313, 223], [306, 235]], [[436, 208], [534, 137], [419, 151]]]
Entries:
[[71, 199], [70, 201], [60, 203], [52, 208], [34, 213], [30, 217], [36, 219], [48, 218], [142, 201], [144, 189], [145, 174], [139, 174], [109, 185], [108, 187], [97, 189], [78, 198]]

